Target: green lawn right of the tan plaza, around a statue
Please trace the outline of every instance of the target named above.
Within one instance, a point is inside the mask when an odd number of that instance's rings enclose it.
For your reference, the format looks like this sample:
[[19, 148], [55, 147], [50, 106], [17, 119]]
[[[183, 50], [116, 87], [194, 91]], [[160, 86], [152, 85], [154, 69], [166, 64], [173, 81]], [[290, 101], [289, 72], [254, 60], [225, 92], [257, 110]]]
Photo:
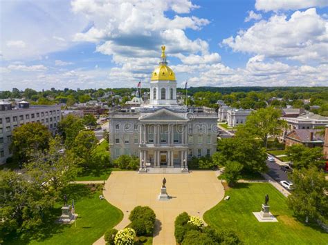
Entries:
[[[252, 212], [259, 212], [268, 194], [271, 213], [279, 222], [258, 222]], [[226, 191], [230, 200], [221, 201], [203, 218], [217, 229], [233, 229], [245, 244], [327, 244], [328, 234], [318, 226], [305, 226], [293, 217], [286, 197], [271, 184], [237, 184]]]

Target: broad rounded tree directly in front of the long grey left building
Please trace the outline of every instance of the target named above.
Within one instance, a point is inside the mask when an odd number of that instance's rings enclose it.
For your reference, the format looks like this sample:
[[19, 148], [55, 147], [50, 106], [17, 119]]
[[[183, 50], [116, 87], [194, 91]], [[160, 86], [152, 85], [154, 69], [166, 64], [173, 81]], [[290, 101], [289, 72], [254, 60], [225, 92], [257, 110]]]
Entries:
[[12, 153], [21, 162], [28, 159], [31, 150], [46, 150], [51, 132], [39, 122], [24, 124], [12, 131]]

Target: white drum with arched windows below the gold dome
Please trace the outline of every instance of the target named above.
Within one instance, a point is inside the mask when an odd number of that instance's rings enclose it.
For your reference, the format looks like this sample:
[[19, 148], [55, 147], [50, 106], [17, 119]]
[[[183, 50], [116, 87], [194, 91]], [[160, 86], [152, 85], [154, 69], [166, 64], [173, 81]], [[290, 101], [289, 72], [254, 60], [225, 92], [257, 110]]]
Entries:
[[150, 104], [153, 106], [176, 106], [176, 81], [150, 81]]

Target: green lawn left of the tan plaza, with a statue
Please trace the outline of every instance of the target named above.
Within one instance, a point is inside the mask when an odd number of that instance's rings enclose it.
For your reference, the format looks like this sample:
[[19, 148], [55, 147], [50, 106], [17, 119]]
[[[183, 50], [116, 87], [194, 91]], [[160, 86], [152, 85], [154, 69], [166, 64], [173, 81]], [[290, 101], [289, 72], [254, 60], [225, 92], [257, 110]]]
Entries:
[[86, 185], [72, 184], [65, 192], [69, 202], [74, 198], [75, 213], [78, 213], [76, 228], [74, 224], [55, 224], [60, 216], [60, 204], [53, 210], [53, 219], [40, 228], [37, 233], [26, 233], [25, 237], [14, 239], [5, 244], [93, 244], [109, 227], [116, 226], [122, 220], [122, 212], [100, 200], [100, 190], [91, 191]]

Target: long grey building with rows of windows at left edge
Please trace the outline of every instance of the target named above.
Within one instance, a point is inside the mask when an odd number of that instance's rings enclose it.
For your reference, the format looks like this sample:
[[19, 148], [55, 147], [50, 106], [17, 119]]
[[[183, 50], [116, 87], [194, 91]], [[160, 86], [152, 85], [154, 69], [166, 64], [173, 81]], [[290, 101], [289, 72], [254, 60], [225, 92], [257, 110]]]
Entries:
[[61, 113], [60, 106], [30, 106], [28, 102], [21, 101], [12, 108], [10, 103], [0, 101], [0, 164], [6, 163], [12, 155], [9, 146], [14, 128], [39, 121], [55, 132], [62, 119]]

